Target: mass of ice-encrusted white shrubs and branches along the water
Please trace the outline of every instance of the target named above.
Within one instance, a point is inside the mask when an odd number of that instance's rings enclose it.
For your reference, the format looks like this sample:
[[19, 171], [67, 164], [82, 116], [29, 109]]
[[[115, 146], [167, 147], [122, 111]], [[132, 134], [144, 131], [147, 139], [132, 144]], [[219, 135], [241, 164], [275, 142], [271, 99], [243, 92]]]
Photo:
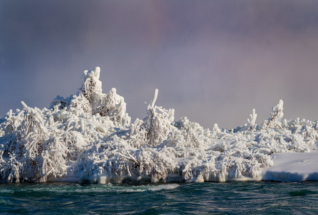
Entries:
[[309, 152], [318, 140], [317, 121], [283, 120], [283, 101], [268, 120], [236, 129], [204, 129], [174, 110], [147, 106], [130, 122], [124, 98], [102, 93], [100, 68], [84, 71], [76, 95], [57, 96], [50, 107], [10, 110], [0, 119], [0, 181], [89, 183], [203, 182], [259, 179], [273, 154]]

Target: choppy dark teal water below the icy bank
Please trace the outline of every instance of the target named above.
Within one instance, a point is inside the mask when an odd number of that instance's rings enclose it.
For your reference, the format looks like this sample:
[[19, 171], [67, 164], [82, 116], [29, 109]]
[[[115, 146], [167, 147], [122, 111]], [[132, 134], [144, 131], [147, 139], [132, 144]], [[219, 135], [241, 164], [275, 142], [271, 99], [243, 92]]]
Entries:
[[318, 214], [318, 182], [0, 184], [0, 214]]

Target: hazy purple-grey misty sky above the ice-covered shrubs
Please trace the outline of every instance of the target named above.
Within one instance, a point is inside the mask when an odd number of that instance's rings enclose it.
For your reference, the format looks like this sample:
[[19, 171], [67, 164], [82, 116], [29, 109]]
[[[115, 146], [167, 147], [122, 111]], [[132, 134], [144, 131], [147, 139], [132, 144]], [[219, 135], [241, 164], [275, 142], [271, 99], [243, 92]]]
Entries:
[[157, 106], [204, 128], [318, 119], [318, 1], [0, 1], [0, 117], [76, 94], [100, 67], [132, 121]]

